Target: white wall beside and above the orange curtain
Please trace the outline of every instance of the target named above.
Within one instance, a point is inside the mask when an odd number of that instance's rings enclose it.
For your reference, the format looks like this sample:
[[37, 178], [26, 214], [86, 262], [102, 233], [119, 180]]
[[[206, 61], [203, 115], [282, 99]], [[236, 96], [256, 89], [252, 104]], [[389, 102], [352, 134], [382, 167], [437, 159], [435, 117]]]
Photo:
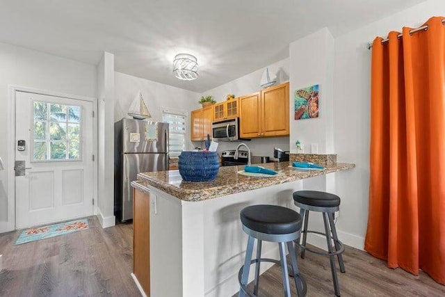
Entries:
[[341, 161], [356, 164], [355, 169], [336, 174], [336, 192], [342, 199], [337, 228], [361, 240], [366, 234], [369, 200], [371, 51], [366, 43], [377, 35], [401, 31], [403, 26], [420, 26], [435, 15], [445, 15], [443, 0], [425, 1], [335, 39], [335, 152]]

